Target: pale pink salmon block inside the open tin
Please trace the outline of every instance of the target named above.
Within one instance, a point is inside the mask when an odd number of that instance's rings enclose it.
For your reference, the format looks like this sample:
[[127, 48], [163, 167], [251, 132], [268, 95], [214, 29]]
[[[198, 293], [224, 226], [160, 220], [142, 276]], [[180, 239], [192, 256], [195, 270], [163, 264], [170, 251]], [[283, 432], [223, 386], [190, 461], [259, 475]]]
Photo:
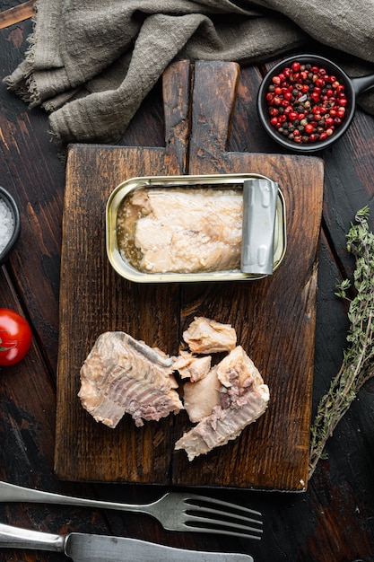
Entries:
[[142, 270], [194, 273], [240, 267], [239, 191], [150, 189], [147, 197], [134, 234]]

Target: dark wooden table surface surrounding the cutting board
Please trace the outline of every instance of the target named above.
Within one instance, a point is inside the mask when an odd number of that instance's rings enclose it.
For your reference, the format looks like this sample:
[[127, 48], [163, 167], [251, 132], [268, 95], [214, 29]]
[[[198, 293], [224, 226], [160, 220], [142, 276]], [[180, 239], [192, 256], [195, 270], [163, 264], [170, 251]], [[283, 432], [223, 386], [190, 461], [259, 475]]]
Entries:
[[[7, 1], [2, 8], [16, 6]], [[3, 20], [4, 22], [4, 20]], [[2, 76], [27, 48], [30, 20], [13, 22], [0, 33]], [[4, 24], [3, 24], [4, 25]], [[228, 150], [285, 154], [261, 129], [255, 106], [261, 71], [242, 67]], [[65, 166], [48, 134], [48, 118], [0, 87], [0, 184], [16, 199], [22, 236], [0, 274], [0, 306], [21, 312], [33, 330], [22, 363], [0, 371], [0, 479], [53, 492], [147, 501], [162, 487], [62, 481], [54, 471], [57, 405], [58, 306]], [[144, 101], [123, 136], [124, 146], [163, 146], [161, 86]], [[342, 363], [348, 327], [345, 304], [335, 281], [352, 274], [345, 234], [367, 204], [374, 227], [374, 118], [360, 109], [347, 134], [321, 156], [325, 163], [317, 294], [313, 412]], [[78, 319], [79, 320], [79, 319]], [[150, 517], [75, 507], [0, 504], [0, 521], [41, 531], [118, 534], [187, 549], [239, 551], [256, 562], [374, 560], [374, 382], [366, 384], [327, 443], [306, 492], [281, 493], [214, 489], [212, 495], [237, 501], [264, 514], [260, 542], [164, 531]], [[1, 499], [1, 498], [0, 498]], [[59, 560], [60, 555], [0, 551], [1, 560]]]

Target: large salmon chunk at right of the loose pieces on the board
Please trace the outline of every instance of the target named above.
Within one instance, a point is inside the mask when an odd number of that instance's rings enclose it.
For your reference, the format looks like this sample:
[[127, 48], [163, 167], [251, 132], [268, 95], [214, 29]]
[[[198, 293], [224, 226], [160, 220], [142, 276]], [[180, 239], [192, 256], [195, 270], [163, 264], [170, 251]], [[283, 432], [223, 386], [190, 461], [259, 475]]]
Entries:
[[176, 450], [187, 452], [189, 461], [236, 439], [267, 408], [269, 388], [242, 347], [222, 359], [217, 377], [221, 382], [220, 403], [175, 445]]

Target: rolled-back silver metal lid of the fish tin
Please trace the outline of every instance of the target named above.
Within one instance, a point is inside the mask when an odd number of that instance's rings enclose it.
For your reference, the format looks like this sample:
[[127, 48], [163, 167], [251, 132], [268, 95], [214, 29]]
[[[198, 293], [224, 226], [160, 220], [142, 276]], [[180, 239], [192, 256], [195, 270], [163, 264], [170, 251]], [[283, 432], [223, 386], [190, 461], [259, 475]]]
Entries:
[[242, 273], [273, 273], [278, 184], [266, 178], [243, 183]]

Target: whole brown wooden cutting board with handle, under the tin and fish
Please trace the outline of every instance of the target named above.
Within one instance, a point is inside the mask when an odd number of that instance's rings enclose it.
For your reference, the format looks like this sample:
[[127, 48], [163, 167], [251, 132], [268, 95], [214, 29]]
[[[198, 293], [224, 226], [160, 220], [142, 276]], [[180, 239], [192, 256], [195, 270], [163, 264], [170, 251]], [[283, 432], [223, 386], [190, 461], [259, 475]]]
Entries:
[[[227, 152], [238, 78], [234, 63], [177, 63], [163, 78], [165, 147], [69, 150], [57, 373], [55, 469], [61, 479], [307, 487], [323, 162]], [[180, 285], [136, 285], [117, 276], [105, 249], [105, 206], [117, 184], [135, 176], [234, 172], [264, 174], [283, 191], [287, 251], [273, 276]], [[83, 410], [79, 370], [100, 333], [125, 330], [176, 355], [196, 315], [231, 323], [270, 388], [265, 415], [236, 441], [189, 462], [185, 452], [173, 451], [190, 426], [185, 412], [140, 428], [124, 417], [109, 429]]]

